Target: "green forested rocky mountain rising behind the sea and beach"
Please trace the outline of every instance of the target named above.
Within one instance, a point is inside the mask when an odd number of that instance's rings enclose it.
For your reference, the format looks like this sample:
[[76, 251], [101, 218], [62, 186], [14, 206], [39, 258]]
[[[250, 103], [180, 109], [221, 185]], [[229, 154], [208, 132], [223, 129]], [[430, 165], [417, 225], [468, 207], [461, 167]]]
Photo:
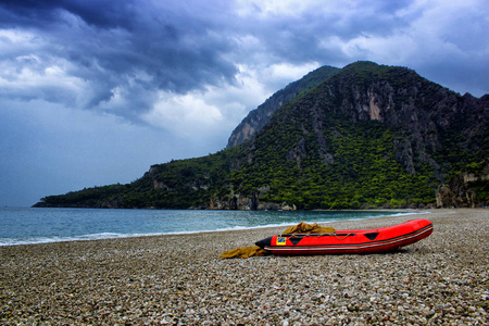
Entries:
[[[36, 205], [434, 206], [441, 184], [488, 158], [489, 95], [461, 96], [412, 70], [373, 62], [308, 76], [250, 113], [225, 150], [153, 165], [128, 185], [49, 196]], [[487, 181], [473, 203], [487, 204]]]

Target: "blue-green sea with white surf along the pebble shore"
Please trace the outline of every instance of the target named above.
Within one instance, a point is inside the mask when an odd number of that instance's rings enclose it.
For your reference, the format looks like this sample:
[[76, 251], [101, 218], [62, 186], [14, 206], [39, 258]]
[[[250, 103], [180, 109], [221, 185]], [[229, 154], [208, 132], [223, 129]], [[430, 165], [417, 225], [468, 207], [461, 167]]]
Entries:
[[221, 231], [417, 213], [0, 208], [0, 246]]

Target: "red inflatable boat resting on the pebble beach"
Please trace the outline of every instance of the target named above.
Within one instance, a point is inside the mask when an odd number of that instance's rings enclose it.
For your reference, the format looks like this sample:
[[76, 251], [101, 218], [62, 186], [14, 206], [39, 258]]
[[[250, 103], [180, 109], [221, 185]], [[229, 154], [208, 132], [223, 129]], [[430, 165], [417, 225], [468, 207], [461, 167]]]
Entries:
[[374, 229], [276, 235], [255, 244], [280, 255], [380, 253], [417, 242], [431, 233], [431, 222], [419, 218]]

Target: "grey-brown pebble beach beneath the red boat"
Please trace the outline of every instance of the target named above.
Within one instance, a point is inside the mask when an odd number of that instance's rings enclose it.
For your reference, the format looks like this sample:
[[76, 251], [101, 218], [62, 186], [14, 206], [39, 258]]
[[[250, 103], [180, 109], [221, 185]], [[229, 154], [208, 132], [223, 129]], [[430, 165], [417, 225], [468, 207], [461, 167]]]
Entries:
[[489, 210], [394, 253], [223, 260], [283, 228], [0, 247], [1, 325], [488, 325]]

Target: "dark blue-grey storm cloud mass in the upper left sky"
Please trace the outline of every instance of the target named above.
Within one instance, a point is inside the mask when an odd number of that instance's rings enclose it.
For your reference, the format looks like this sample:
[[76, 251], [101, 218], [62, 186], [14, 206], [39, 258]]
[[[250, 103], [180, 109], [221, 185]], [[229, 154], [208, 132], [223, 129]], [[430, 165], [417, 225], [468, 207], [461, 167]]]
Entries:
[[8, 1], [0, 4], [0, 26], [28, 28], [46, 42], [36, 49], [38, 55], [72, 62], [70, 74], [92, 84], [88, 108], [108, 101], [116, 87], [185, 93], [234, 83], [237, 68], [225, 58], [230, 42], [213, 32], [211, 16], [177, 3]]

